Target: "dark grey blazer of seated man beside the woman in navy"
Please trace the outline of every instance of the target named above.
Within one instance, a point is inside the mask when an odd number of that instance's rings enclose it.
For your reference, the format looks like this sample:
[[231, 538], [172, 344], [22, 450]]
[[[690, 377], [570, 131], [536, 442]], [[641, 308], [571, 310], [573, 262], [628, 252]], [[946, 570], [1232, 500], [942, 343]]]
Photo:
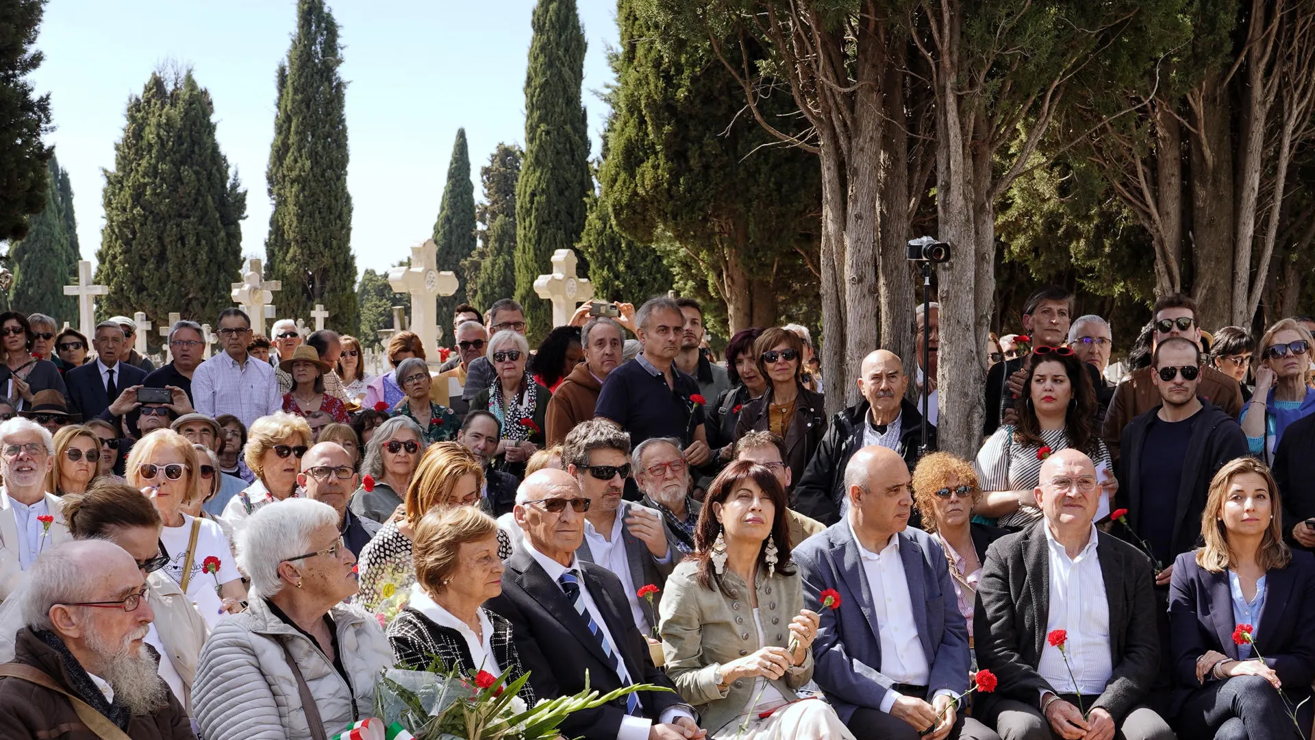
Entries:
[[[999, 679], [994, 694], [984, 694], [982, 711], [999, 698], [1040, 708], [1051, 685], [1036, 673], [1049, 620], [1049, 554], [1045, 520], [995, 540], [986, 550], [973, 635], [977, 665]], [[1118, 537], [1097, 532], [1105, 595], [1110, 604], [1110, 656], [1114, 674], [1105, 691], [1088, 704], [1103, 707], [1115, 723], [1143, 703], [1160, 670], [1160, 633], [1151, 561]]]

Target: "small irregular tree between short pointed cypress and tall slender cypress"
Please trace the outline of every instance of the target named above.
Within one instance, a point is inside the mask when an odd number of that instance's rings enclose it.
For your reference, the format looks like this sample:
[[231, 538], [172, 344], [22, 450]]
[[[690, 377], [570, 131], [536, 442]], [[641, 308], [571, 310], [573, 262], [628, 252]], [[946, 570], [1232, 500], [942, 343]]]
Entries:
[[480, 311], [515, 292], [515, 186], [525, 154], [514, 144], [498, 144], [480, 167], [484, 203], [475, 208], [480, 245], [462, 261], [466, 296]]

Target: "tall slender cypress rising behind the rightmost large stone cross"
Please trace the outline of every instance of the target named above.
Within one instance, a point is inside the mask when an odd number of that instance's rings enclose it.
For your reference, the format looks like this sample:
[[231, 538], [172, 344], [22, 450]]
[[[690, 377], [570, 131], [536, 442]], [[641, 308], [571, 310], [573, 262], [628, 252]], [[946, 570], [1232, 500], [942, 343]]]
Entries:
[[515, 190], [515, 299], [537, 340], [552, 329], [552, 305], [535, 295], [534, 279], [552, 266], [554, 251], [580, 240], [593, 183], [580, 103], [585, 41], [575, 0], [539, 0], [531, 26], [525, 166]]

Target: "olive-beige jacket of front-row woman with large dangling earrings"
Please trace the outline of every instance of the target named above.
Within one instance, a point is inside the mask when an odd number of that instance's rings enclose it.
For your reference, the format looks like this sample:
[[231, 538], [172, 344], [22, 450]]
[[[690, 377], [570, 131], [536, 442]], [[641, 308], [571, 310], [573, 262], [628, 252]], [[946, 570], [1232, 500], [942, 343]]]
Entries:
[[[722, 664], [739, 660], [764, 647], [789, 645], [789, 624], [803, 608], [803, 582], [798, 571], [768, 578], [757, 574], [757, 607], [763, 623], [759, 643], [748, 587], [740, 577], [726, 571], [722, 587], [705, 589], [696, 575], [698, 562], [686, 560], [667, 577], [659, 632], [667, 675], [686, 702], [698, 710], [700, 726], [709, 736], [739, 718], [753, 700], [753, 678], [736, 678], [725, 693], [717, 690]], [[786, 699], [797, 699], [796, 689], [813, 678], [813, 652], [805, 650], [803, 665], [792, 668], [772, 685]]]

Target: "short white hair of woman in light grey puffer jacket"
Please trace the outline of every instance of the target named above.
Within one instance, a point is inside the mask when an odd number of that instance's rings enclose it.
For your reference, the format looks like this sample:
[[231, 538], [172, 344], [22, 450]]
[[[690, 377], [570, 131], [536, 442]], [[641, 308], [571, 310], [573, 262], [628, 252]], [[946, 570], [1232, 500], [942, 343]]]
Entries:
[[279, 565], [310, 549], [310, 533], [338, 527], [338, 511], [312, 499], [284, 499], [252, 514], [238, 533], [238, 569], [251, 590], [272, 596], [283, 590]]

